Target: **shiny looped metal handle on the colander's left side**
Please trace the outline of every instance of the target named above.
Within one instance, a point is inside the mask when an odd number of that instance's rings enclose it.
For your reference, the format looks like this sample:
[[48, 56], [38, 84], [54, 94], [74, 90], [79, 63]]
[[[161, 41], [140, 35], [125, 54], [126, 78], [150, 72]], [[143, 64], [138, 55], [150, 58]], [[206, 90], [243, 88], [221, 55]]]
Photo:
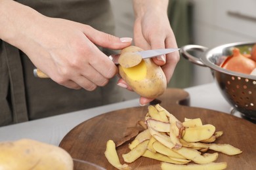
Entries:
[[181, 47], [181, 55], [185, 58], [188, 59], [188, 61], [191, 61], [192, 63], [195, 63], [196, 65], [200, 65], [203, 67], [207, 67], [207, 65], [205, 65], [200, 58], [196, 58], [194, 56], [192, 56], [191, 54], [188, 53], [188, 50], [196, 50], [196, 51], [201, 51], [201, 52], [205, 52], [206, 50], [208, 50], [207, 47], [205, 46], [200, 46], [200, 45], [186, 45], [186, 46], [182, 46]]

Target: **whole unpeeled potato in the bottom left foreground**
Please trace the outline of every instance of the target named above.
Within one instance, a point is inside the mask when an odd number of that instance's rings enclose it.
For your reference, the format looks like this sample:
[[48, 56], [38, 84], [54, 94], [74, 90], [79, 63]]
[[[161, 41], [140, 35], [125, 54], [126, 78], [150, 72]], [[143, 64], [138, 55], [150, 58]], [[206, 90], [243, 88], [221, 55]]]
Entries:
[[66, 150], [51, 144], [20, 139], [0, 143], [0, 169], [73, 169]]

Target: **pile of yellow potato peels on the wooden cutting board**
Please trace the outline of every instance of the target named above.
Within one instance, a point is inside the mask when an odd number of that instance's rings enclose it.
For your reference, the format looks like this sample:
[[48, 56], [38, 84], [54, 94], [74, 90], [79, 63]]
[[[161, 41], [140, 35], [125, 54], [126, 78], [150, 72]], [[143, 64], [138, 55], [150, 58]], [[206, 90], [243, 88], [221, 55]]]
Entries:
[[[230, 144], [214, 143], [223, 135], [223, 131], [215, 131], [215, 126], [202, 124], [200, 118], [185, 118], [184, 122], [180, 122], [159, 104], [148, 106], [144, 124], [141, 125], [144, 130], [131, 141], [130, 151], [122, 155], [126, 163], [143, 156], [161, 161], [161, 169], [217, 170], [227, 167], [226, 162], [215, 162], [218, 152], [229, 156], [242, 153]], [[214, 152], [210, 154], [207, 150]], [[116, 144], [112, 140], [106, 144], [105, 156], [117, 169], [131, 169], [129, 165], [120, 163]]]

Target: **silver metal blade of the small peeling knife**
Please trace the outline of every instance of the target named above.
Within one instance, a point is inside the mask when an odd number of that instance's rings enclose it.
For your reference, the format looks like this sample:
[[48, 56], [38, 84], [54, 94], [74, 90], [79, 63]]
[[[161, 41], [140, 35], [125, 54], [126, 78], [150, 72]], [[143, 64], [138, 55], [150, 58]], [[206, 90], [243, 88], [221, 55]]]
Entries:
[[[180, 48], [163, 48], [163, 49], [157, 49], [157, 50], [145, 50], [145, 51], [140, 51], [136, 52], [139, 54], [142, 59], [146, 58], [155, 58], [157, 56], [161, 56], [163, 54], [169, 54], [171, 52], [175, 52], [180, 50]], [[116, 64], [118, 65], [118, 59], [119, 59], [120, 54], [112, 54], [109, 56], [109, 58]]]

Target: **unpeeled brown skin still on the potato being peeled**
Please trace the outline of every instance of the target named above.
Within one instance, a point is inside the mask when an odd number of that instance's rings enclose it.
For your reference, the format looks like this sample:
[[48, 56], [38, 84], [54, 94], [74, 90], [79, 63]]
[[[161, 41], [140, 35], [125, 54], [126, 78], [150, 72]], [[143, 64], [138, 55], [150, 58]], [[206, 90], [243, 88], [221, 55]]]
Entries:
[[[121, 51], [121, 54], [125, 52], [137, 52], [142, 49], [136, 46], [129, 46]], [[167, 81], [163, 70], [159, 65], [156, 65], [152, 59], [143, 59], [146, 63], [146, 76], [142, 80], [133, 80], [127, 76], [123, 71], [121, 65], [119, 65], [119, 75], [131, 88], [142, 97], [155, 99], [165, 92], [167, 88]]]

